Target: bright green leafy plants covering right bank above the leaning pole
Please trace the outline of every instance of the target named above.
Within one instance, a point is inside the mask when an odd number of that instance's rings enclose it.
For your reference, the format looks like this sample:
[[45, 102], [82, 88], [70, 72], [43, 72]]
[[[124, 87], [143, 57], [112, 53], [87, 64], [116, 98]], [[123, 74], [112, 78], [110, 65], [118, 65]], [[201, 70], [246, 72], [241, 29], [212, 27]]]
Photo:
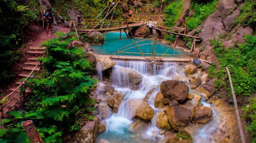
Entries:
[[234, 91], [249, 96], [256, 87], [256, 36], [245, 36], [245, 43], [223, 47], [221, 41], [211, 40], [220, 67], [213, 64], [208, 70], [210, 78], [218, 78], [216, 86], [224, 86], [220, 80], [227, 79], [225, 67], [229, 67]]

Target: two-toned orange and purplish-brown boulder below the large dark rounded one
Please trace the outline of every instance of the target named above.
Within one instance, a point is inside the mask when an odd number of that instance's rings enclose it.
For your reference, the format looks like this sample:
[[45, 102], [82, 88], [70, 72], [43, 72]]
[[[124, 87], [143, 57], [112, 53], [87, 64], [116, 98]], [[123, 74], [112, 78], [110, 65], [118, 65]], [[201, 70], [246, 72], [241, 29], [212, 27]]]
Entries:
[[184, 128], [192, 115], [192, 110], [183, 106], [166, 106], [164, 111], [167, 114], [169, 123], [175, 130]]

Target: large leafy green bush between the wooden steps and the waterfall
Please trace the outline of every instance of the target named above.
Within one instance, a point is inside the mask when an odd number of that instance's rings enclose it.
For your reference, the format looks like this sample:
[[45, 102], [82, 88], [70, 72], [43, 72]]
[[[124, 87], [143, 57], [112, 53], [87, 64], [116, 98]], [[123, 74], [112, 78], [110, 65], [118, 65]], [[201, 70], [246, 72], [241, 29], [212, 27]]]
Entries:
[[59, 33], [58, 38], [42, 44], [48, 51], [41, 58], [43, 71], [28, 81], [33, 94], [27, 98], [27, 106], [2, 120], [1, 143], [29, 142], [21, 126], [25, 120], [33, 120], [45, 143], [60, 143], [63, 136], [72, 136], [83, 122], [93, 119], [90, 112], [95, 100], [89, 94], [97, 82], [90, 76], [94, 65], [84, 59], [87, 55], [82, 48], [70, 44], [74, 40], [75, 36]]

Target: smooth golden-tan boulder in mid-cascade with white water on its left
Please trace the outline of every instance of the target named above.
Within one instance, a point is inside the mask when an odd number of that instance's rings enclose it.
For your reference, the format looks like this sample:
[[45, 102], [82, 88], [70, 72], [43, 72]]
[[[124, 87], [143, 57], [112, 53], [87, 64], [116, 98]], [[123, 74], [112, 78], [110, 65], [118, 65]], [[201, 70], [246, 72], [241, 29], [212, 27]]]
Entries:
[[154, 116], [154, 110], [147, 102], [143, 101], [136, 111], [136, 116], [144, 122], [149, 122]]

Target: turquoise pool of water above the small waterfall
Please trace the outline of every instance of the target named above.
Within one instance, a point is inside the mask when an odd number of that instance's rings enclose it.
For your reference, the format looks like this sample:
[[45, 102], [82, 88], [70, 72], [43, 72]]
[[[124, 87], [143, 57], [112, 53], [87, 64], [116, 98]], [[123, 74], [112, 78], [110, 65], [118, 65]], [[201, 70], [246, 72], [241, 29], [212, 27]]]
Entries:
[[[148, 38], [134, 38], [135, 41], [140, 41], [140, 40], [145, 40], [145, 39], [148, 39]], [[104, 44], [91, 45], [91, 49], [93, 49], [93, 52], [98, 53], [100, 55], [112, 55], [118, 49], [120, 49], [128, 44], [131, 44], [131, 43], [133, 43], [132, 38], [127, 37], [125, 35], [125, 33], [121, 33], [121, 39], [120, 39], [120, 32], [109, 32], [106, 35]], [[138, 43], [142, 52], [148, 53], [148, 54], [144, 54], [145, 56], [151, 56], [153, 44], [150, 44], [150, 43], [154, 43], [154, 40], [153, 39], [146, 40], [146, 41], [142, 41], [142, 42]], [[157, 41], [157, 43], [162, 43], [162, 42]], [[143, 44], [143, 45], [141, 45], [141, 44]], [[162, 43], [162, 44], [166, 44], [166, 43]], [[166, 51], [166, 49], [168, 49], [168, 47], [166, 45], [162, 45], [162, 44], [157, 44], [156, 53], [162, 54]], [[167, 44], [167, 45], [169, 45], [169, 44]], [[133, 48], [131, 48], [131, 47], [133, 47]], [[127, 49], [127, 48], [130, 48], [130, 49]], [[141, 54], [134, 53], [134, 52], [140, 53], [139, 49], [136, 47], [136, 45], [134, 43], [124, 49], [127, 49], [124, 52], [133, 52], [133, 53], [117, 53], [117, 55], [142, 56]], [[183, 51], [182, 49], [176, 48], [176, 50], [183, 54], [186, 54], [186, 52]], [[181, 53], [179, 53], [177, 51], [170, 48], [169, 51], [167, 51], [167, 54], [181, 55]], [[176, 55], [176, 56], [178, 56], [178, 55]], [[162, 55], [156, 55], [156, 56], [162, 56]], [[174, 56], [174, 55], [165, 55], [165, 56]]]

